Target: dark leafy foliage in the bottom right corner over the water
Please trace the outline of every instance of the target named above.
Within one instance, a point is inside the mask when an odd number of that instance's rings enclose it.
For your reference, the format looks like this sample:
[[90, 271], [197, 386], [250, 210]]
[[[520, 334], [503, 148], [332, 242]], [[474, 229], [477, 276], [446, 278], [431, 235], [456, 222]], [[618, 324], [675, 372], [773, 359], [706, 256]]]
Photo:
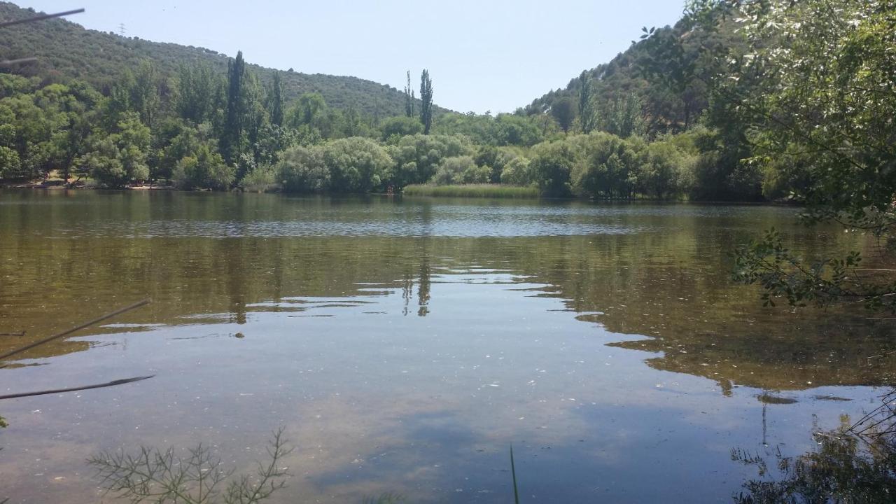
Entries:
[[[840, 428], [817, 431], [817, 448], [797, 457], [780, 448], [765, 454], [733, 449], [731, 458], [754, 465], [757, 479], [745, 482], [738, 504], [896, 502], [896, 392], [856, 423], [840, 417]], [[771, 458], [776, 467], [770, 469]], [[774, 477], [777, 470], [778, 477]]]

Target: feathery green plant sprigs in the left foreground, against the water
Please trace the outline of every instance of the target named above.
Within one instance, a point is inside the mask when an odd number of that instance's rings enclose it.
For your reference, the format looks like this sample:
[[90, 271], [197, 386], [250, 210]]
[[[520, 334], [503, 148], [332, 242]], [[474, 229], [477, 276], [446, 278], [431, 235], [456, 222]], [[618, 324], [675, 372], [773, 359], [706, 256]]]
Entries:
[[[274, 432], [268, 448], [268, 461], [258, 463], [253, 475], [225, 481], [233, 474], [224, 469], [220, 458], [202, 445], [190, 448], [185, 457], [174, 448], [159, 451], [141, 448], [134, 455], [106, 452], [90, 458], [97, 469], [100, 485], [108, 493], [132, 502], [183, 502], [185, 504], [254, 504], [271, 497], [286, 482], [287, 469], [282, 459], [292, 451], [286, 448], [283, 430]], [[224, 488], [222, 488], [224, 487]]]

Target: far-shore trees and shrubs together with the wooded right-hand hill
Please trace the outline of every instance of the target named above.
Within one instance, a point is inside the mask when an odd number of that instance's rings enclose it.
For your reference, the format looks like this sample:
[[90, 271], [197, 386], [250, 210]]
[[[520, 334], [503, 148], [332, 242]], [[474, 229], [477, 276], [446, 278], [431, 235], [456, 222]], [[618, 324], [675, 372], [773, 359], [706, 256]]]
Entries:
[[[703, 4], [725, 12], [724, 2]], [[197, 61], [168, 72], [142, 60], [102, 88], [0, 74], [0, 178], [302, 192], [487, 182], [545, 196], [792, 197], [810, 184], [809, 162], [745, 161], [761, 152], [762, 137], [730, 97], [775, 83], [740, 72], [735, 62], [750, 41], [735, 24], [732, 15], [692, 14], [645, 29], [566, 90], [495, 116], [437, 109], [426, 70], [418, 90], [407, 74], [402, 107], [389, 115], [332, 107], [315, 92], [289, 100], [289, 73], [263, 78], [242, 54], [226, 72]]]

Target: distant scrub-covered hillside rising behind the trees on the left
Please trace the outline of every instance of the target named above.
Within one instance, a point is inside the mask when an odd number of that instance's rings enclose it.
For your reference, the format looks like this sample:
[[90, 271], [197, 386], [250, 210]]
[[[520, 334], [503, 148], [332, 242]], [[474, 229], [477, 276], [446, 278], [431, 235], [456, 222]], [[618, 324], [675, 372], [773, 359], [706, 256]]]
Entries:
[[[31, 9], [0, 2], [0, 20], [32, 17]], [[228, 56], [206, 48], [151, 42], [120, 37], [113, 33], [86, 30], [62, 19], [35, 22], [0, 30], [0, 60], [34, 56], [36, 63], [18, 65], [7, 72], [38, 75], [52, 82], [76, 78], [108, 90], [125, 68], [136, 68], [151, 59], [163, 73], [170, 74], [184, 63], [211, 63], [221, 74], [227, 71]], [[249, 56], [251, 59], [251, 55]], [[249, 65], [263, 81], [274, 70]], [[391, 86], [358, 79], [323, 74], [281, 72], [284, 97], [289, 102], [305, 92], [319, 92], [337, 109], [357, 109], [371, 116], [390, 117], [404, 113], [404, 95]]]

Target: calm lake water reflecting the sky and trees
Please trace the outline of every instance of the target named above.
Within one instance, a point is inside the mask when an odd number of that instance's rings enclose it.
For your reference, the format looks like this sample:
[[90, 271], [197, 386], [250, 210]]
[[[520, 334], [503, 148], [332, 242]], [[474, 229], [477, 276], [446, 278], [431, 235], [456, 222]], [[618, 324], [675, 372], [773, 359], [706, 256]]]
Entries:
[[[766, 206], [0, 192], [0, 500], [97, 502], [100, 450], [202, 442], [274, 502], [728, 502], [731, 450], [797, 455], [892, 383], [892, 321], [762, 308], [730, 252]], [[762, 401], [761, 397], [778, 399]], [[111, 501], [108, 498], [105, 501]]]

